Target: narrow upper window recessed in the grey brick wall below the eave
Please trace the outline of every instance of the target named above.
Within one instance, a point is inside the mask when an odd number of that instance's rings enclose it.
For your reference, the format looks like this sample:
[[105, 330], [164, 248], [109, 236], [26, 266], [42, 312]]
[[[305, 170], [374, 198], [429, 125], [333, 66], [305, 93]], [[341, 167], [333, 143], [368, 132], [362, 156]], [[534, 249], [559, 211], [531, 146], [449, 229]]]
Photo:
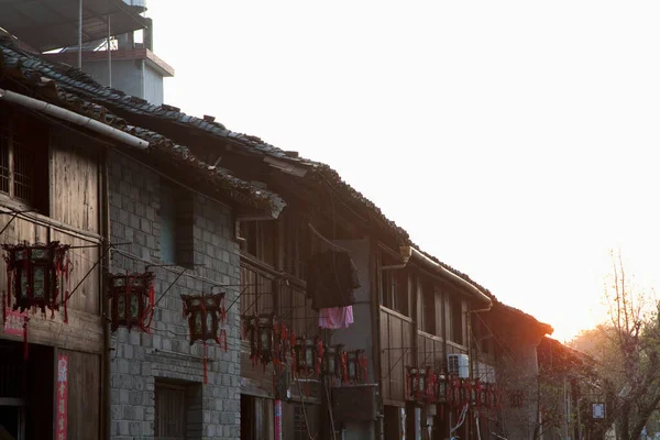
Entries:
[[193, 195], [161, 182], [161, 260], [193, 268], [195, 262]]

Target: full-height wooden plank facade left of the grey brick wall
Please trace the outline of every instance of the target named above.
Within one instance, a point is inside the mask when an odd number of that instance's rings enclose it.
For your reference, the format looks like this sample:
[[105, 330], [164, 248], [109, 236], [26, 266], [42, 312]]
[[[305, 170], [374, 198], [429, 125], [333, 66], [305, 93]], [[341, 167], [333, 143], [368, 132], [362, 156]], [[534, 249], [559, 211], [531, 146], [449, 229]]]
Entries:
[[[0, 331], [0, 371], [21, 365], [23, 385], [13, 393], [0, 385], [0, 413], [16, 408], [12, 433], [55, 438], [56, 359], [68, 358], [68, 438], [101, 436], [101, 268], [99, 166], [102, 145], [58, 123], [0, 105], [0, 241], [15, 244], [58, 241], [70, 245], [68, 323], [61, 307], [51, 318], [30, 315], [29, 358], [23, 338]], [[20, 163], [30, 152], [28, 163]], [[6, 184], [7, 183], [7, 184]], [[15, 215], [15, 212], [21, 212]], [[13, 218], [15, 215], [15, 218]], [[6, 228], [7, 227], [7, 228]], [[6, 228], [6, 229], [4, 229]], [[4, 261], [0, 285], [7, 286]], [[6, 289], [3, 289], [7, 292]], [[62, 293], [65, 294], [65, 293]], [[11, 377], [11, 376], [10, 376]], [[8, 400], [14, 398], [14, 400]], [[10, 406], [4, 404], [13, 404]], [[18, 405], [18, 406], [16, 406]], [[30, 407], [28, 411], [25, 408]]]

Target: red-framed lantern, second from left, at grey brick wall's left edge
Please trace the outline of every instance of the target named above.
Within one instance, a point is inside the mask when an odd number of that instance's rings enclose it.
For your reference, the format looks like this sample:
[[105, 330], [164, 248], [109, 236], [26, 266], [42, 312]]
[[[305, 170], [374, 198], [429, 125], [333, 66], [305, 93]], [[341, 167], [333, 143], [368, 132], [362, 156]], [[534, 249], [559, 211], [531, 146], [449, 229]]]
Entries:
[[135, 327], [148, 333], [154, 312], [154, 274], [110, 274], [109, 280], [110, 329], [125, 327], [130, 331]]

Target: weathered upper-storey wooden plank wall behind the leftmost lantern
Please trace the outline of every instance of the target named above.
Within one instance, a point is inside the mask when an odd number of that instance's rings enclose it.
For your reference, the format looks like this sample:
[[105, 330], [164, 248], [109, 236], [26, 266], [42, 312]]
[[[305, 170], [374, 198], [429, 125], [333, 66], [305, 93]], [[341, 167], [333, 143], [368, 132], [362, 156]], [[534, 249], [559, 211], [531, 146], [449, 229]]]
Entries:
[[[30, 243], [59, 241], [72, 246], [92, 246], [69, 251], [72, 262], [69, 292], [92, 268], [100, 256], [99, 235], [99, 145], [92, 140], [72, 131], [54, 130], [51, 142], [51, 216], [28, 212], [15, 218], [0, 237], [0, 243]], [[3, 209], [4, 208], [4, 209]], [[11, 220], [11, 209], [28, 206], [0, 195], [0, 229]], [[100, 327], [100, 277], [97, 266], [69, 298], [68, 324], [64, 323], [64, 310], [44, 319], [36, 314], [30, 321], [30, 342], [56, 345], [70, 350], [100, 352], [102, 330]], [[0, 260], [0, 286], [7, 290], [7, 272]], [[20, 340], [0, 332], [0, 338]]]

